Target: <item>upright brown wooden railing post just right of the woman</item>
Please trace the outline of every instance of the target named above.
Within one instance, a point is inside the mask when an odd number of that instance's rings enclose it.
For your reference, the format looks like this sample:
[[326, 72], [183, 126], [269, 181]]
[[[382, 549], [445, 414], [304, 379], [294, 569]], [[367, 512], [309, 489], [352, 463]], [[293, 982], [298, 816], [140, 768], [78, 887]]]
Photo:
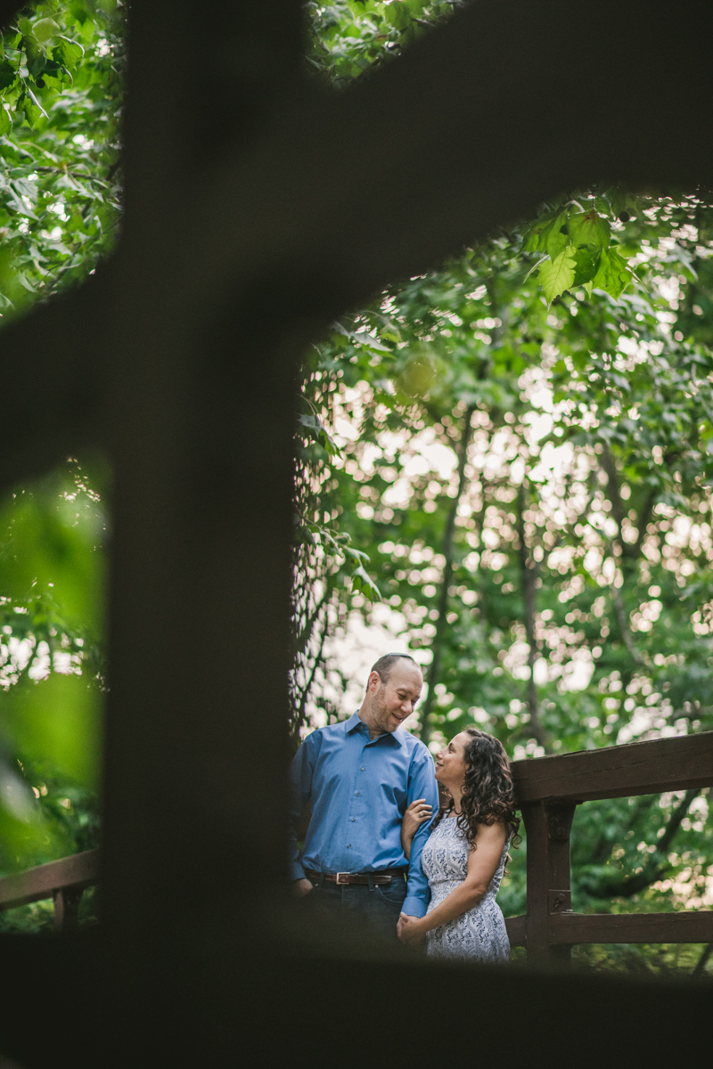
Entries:
[[576, 802], [530, 802], [522, 806], [527, 834], [527, 960], [567, 967], [569, 946], [549, 943], [549, 917], [572, 909], [570, 828]]

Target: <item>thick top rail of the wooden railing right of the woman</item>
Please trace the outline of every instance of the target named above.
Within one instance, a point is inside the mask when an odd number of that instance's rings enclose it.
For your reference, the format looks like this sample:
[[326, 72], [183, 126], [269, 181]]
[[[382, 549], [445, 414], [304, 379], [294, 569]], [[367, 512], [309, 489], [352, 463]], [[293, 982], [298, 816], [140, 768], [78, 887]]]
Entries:
[[521, 803], [627, 797], [713, 785], [713, 731], [511, 764]]

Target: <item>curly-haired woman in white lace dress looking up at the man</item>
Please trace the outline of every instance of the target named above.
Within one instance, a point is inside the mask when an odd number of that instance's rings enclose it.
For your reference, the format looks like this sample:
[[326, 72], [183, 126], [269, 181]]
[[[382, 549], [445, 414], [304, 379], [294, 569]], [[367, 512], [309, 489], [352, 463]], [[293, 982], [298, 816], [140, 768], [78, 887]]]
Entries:
[[[449, 801], [421, 855], [431, 902], [424, 917], [401, 915], [399, 938], [413, 943], [425, 936], [433, 958], [509, 961], [495, 895], [520, 818], [502, 744], [485, 731], [466, 728], [437, 755], [436, 779]], [[402, 838], [408, 853], [416, 828], [430, 816], [424, 808], [418, 801], [404, 815]]]

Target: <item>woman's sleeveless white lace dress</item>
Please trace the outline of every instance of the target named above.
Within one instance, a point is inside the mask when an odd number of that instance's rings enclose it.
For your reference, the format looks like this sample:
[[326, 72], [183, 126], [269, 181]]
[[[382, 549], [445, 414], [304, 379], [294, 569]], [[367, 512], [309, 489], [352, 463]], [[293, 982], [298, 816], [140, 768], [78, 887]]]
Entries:
[[[497, 872], [487, 892], [467, 913], [448, 920], [428, 933], [428, 952], [433, 958], [503, 962], [510, 960], [510, 943], [502, 910], [495, 901], [508, 859], [510, 839], [505, 845]], [[439, 905], [463, 883], [470, 850], [454, 817], [440, 821], [423, 847], [421, 865], [431, 888], [428, 912]]]

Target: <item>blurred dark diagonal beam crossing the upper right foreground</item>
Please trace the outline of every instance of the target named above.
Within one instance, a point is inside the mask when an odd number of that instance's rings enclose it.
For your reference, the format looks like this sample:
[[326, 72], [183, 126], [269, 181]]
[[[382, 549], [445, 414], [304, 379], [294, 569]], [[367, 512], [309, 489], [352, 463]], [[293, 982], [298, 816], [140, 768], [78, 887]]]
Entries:
[[[244, 291], [249, 277], [254, 292], [279, 286], [285, 308], [331, 317], [556, 192], [605, 176], [665, 183], [676, 172], [678, 187], [683, 175], [713, 176], [713, 139], [699, 129], [702, 102], [713, 103], [701, 37], [713, 33], [713, 9], [677, 6], [677, 24], [697, 26], [685, 47], [641, 0], [627, 4], [636, 49], [610, 32], [620, 17], [615, 0], [601, 0], [595, 19], [565, 0], [549, 0], [544, 18], [528, 0], [480, 0], [342, 93], [306, 87], [184, 212], [174, 262], [189, 263], [172, 272], [184, 306]], [[557, 65], [542, 57], [567, 55], [572, 40], [587, 46], [562, 93]]]

